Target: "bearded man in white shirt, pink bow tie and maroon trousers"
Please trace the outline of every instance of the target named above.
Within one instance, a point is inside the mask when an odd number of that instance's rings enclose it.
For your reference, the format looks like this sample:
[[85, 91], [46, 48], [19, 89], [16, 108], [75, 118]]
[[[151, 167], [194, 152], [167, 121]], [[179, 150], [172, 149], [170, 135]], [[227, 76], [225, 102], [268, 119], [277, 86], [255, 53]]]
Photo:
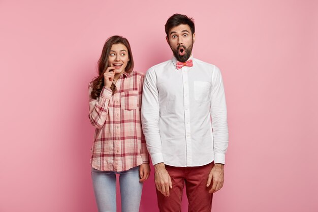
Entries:
[[165, 30], [174, 57], [147, 71], [142, 98], [158, 207], [181, 211], [185, 184], [188, 211], [210, 212], [212, 195], [223, 186], [228, 147], [222, 78], [216, 66], [192, 56], [192, 18], [174, 14]]

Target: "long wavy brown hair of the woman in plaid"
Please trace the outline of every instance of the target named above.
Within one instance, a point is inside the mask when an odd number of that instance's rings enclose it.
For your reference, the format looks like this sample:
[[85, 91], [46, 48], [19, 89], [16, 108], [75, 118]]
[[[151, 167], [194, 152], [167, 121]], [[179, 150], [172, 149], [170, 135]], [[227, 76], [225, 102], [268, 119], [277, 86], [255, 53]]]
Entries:
[[[104, 86], [104, 73], [108, 67], [108, 58], [109, 58], [109, 54], [110, 54], [110, 49], [113, 46], [113, 44], [118, 44], [118, 43], [123, 44], [128, 49], [128, 56], [129, 56], [130, 60], [125, 68], [125, 72], [130, 73], [134, 69], [134, 59], [133, 59], [132, 49], [130, 47], [128, 40], [122, 36], [112, 36], [112, 37], [108, 38], [104, 44], [101, 57], [98, 60], [99, 76], [95, 77], [92, 80], [93, 90], [90, 93], [90, 95], [93, 99], [97, 99], [102, 92], [102, 89]], [[116, 89], [115, 85], [112, 84], [110, 89], [114, 93], [114, 91]]]

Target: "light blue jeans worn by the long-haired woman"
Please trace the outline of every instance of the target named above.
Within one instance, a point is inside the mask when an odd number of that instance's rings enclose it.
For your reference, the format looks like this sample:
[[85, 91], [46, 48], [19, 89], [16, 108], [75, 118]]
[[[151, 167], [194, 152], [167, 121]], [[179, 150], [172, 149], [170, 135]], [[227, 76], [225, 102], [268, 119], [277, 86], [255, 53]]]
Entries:
[[116, 175], [119, 174], [121, 211], [138, 212], [142, 192], [139, 166], [127, 171], [100, 171], [91, 168], [94, 194], [99, 212], [116, 212]]

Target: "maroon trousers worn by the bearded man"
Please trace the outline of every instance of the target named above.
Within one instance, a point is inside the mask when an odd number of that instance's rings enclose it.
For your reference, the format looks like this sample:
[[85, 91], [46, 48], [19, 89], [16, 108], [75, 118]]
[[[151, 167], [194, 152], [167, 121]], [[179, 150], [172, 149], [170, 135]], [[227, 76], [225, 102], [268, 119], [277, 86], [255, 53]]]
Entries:
[[172, 189], [170, 196], [165, 197], [157, 192], [160, 212], [181, 212], [181, 200], [185, 184], [186, 196], [189, 201], [189, 212], [211, 212], [213, 194], [209, 194], [212, 185], [206, 187], [208, 175], [214, 163], [197, 167], [174, 167], [166, 165], [171, 177]]

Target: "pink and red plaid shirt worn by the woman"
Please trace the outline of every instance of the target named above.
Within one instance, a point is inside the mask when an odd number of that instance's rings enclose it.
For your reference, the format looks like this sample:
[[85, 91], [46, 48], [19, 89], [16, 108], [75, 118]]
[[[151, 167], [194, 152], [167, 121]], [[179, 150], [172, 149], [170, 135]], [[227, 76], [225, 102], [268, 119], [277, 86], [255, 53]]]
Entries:
[[149, 163], [140, 110], [144, 74], [124, 72], [114, 95], [105, 86], [92, 99], [89, 84], [89, 119], [96, 127], [90, 164], [102, 171], [125, 171]]

